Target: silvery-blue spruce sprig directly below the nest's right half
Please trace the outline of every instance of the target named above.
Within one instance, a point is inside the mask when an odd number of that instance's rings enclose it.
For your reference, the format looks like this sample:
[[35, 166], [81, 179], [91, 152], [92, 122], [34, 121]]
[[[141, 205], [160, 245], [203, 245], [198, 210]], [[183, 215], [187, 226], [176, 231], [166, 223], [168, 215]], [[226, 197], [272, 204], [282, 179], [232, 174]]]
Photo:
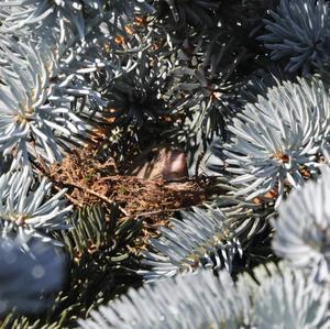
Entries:
[[240, 242], [230, 232], [226, 217], [219, 210], [193, 208], [173, 219], [173, 228], [161, 228], [162, 237], [151, 241], [152, 252], [143, 253], [146, 279], [170, 277], [199, 266], [232, 272], [234, 257], [240, 257]]

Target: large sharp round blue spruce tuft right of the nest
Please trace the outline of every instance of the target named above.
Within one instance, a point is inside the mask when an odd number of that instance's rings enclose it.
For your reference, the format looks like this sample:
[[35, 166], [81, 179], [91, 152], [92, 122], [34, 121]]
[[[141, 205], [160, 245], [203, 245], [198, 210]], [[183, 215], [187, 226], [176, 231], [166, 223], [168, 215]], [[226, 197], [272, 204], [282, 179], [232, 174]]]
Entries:
[[248, 199], [274, 194], [276, 205], [287, 189], [318, 174], [329, 139], [329, 99], [321, 81], [283, 83], [266, 98], [248, 103], [228, 127], [228, 171], [237, 174], [238, 195]]

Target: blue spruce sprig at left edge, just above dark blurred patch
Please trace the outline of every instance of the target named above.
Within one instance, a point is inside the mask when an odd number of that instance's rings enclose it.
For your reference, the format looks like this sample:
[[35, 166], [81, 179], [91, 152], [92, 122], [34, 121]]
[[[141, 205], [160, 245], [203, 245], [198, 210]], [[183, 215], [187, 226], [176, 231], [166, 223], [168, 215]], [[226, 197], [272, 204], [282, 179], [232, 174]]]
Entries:
[[[35, 190], [31, 172], [26, 169], [9, 172], [0, 177], [0, 226], [6, 231], [46, 234], [51, 230], [68, 228], [67, 217], [73, 206], [65, 206], [62, 198], [65, 190], [46, 199], [51, 183], [43, 177]], [[21, 228], [21, 230], [20, 230]]]

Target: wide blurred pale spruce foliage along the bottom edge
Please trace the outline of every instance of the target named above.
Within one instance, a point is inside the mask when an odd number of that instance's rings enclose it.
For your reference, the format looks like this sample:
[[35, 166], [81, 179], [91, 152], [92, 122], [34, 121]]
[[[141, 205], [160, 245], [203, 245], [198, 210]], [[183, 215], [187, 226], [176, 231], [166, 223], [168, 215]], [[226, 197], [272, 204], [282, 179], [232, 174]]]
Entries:
[[205, 271], [146, 284], [91, 312], [81, 328], [327, 328], [329, 293], [280, 265], [256, 268], [260, 286]]

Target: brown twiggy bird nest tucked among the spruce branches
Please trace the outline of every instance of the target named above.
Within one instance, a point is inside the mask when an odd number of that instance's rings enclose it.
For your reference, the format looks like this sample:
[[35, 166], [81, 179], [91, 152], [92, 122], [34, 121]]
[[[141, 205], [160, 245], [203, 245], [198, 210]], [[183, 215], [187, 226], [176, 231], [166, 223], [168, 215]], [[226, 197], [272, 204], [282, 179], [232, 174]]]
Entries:
[[207, 197], [204, 180], [164, 182], [122, 175], [112, 158], [100, 162], [87, 149], [74, 150], [62, 163], [43, 167], [43, 172], [56, 189], [67, 188], [66, 197], [76, 208], [117, 205], [119, 221], [143, 219], [139, 240], [144, 245], [158, 234], [160, 226], [169, 226], [175, 211], [200, 205]]

